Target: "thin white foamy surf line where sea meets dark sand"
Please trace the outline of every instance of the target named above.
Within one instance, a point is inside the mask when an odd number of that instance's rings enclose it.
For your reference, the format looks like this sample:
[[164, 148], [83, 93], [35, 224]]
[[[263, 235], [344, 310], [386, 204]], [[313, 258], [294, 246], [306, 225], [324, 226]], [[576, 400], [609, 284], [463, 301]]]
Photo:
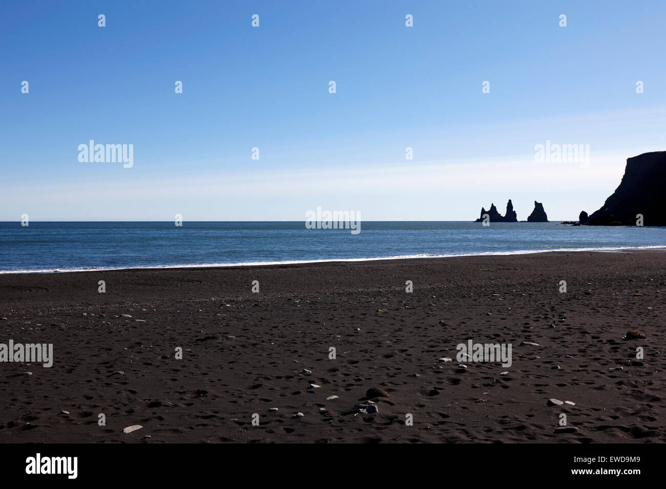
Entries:
[[51, 273], [80, 273], [80, 272], [103, 272], [103, 271], [123, 271], [123, 270], [204, 270], [204, 269], [226, 269], [226, 268], [250, 268], [250, 267], [282, 267], [286, 265], [316, 265], [318, 263], [364, 263], [366, 261], [384, 262], [384, 261], [402, 261], [402, 260], [424, 260], [424, 259], [448, 259], [480, 256], [522, 256], [542, 253], [640, 253], [651, 251], [666, 251], [666, 245], [649, 245], [644, 247], [606, 247], [606, 248], [562, 248], [562, 249], [544, 249], [544, 250], [517, 250], [517, 251], [498, 251], [488, 253], [467, 253], [461, 255], [396, 255], [394, 257], [370, 257], [370, 258], [337, 258], [337, 259], [319, 259], [319, 260], [285, 260], [285, 261], [266, 261], [266, 262], [245, 262], [245, 263], [212, 263], [210, 265], [195, 263], [192, 265], [163, 265], [163, 266], [145, 266], [145, 267], [91, 267], [88, 269], [40, 269], [40, 270], [0, 270], [2, 275], [39, 275]]

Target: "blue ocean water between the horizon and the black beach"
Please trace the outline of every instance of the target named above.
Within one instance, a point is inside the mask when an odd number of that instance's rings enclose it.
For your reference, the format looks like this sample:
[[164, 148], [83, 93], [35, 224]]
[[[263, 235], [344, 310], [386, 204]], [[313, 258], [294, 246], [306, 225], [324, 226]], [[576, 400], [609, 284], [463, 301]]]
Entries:
[[0, 273], [666, 248], [666, 228], [551, 223], [0, 222]]

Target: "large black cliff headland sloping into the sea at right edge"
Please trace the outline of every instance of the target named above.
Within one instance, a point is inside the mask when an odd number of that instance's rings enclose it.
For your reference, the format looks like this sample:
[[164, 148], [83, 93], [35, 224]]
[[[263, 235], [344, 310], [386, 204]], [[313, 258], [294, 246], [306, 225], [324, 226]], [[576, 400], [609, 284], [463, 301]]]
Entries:
[[666, 226], [666, 151], [628, 158], [619, 186], [587, 224], [636, 226], [637, 214], [643, 226]]

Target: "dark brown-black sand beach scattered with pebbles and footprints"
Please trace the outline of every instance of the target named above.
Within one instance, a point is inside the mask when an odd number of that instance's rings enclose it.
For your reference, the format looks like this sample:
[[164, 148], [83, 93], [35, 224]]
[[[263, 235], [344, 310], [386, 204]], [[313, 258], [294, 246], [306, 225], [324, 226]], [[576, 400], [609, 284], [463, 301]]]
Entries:
[[55, 357], [0, 363], [0, 442], [665, 442], [665, 298], [659, 251], [0, 275], [0, 343]]

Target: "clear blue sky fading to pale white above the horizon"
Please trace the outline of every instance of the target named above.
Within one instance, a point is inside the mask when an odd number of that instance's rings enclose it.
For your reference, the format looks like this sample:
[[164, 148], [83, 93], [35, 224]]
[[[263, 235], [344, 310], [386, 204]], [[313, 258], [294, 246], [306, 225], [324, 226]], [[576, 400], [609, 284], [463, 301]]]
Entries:
[[[0, 220], [474, 220], [509, 198], [519, 220], [534, 200], [576, 219], [666, 149], [665, 18], [656, 0], [5, 0]], [[133, 166], [79, 162], [89, 140], [133, 144]], [[536, 162], [546, 140], [589, 144], [589, 165]]]

